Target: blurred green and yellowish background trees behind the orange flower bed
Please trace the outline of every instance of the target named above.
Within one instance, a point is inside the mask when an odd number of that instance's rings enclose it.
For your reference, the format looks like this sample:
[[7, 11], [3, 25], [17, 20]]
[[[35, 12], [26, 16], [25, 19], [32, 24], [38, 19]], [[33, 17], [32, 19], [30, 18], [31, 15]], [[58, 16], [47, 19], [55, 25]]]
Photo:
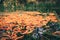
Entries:
[[60, 15], [60, 0], [0, 0], [0, 11], [56, 11]]

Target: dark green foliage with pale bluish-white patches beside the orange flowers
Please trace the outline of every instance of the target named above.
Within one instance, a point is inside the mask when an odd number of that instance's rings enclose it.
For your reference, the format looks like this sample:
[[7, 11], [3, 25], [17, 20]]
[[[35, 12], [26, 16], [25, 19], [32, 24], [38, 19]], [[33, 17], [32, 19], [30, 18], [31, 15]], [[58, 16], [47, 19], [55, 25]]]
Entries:
[[[46, 28], [46, 26], [49, 26], [49, 28]], [[32, 34], [29, 34], [30, 36], [25, 36], [26, 40], [60, 40], [59, 35], [56, 36], [52, 34], [55, 31], [60, 31], [60, 24], [49, 21], [46, 26], [36, 28]]]

